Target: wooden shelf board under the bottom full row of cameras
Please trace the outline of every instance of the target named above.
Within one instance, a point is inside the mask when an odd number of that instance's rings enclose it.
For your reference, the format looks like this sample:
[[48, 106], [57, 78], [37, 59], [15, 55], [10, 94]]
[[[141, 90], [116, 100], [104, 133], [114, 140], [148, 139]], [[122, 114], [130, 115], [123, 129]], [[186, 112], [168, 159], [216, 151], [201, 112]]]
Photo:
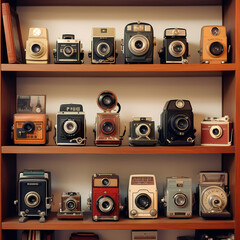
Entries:
[[83, 220], [58, 220], [52, 213], [45, 223], [28, 220], [19, 223], [17, 217], [7, 218], [2, 222], [4, 230], [156, 230], [156, 229], [234, 229], [234, 220], [204, 220], [201, 217], [191, 219], [120, 219], [94, 222], [88, 215]]

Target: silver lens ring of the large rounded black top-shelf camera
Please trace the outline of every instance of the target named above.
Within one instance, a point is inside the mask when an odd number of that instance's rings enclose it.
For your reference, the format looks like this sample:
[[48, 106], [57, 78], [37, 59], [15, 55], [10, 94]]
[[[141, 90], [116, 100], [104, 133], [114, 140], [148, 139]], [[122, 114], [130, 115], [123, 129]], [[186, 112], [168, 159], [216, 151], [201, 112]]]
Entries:
[[[140, 45], [140, 47], [136, 47], [136, 44]], [[149, 50], [149, 41], [147, 37], [141, 34], [134, 35], [130, 38], [128, 42], [128, 48], [130, 52], [136, 56], [142, 56], [146, 54]]]

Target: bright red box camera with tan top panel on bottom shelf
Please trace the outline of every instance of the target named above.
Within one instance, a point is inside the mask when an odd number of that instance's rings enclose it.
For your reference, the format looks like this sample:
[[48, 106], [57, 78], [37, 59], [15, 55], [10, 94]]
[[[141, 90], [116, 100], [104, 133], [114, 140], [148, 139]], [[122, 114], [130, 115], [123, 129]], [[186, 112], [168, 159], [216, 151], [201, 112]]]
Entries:
[[94, 221], [119, 220], [119, 177], [116, 174], [94, 174], [92, 177], [92, 218]]

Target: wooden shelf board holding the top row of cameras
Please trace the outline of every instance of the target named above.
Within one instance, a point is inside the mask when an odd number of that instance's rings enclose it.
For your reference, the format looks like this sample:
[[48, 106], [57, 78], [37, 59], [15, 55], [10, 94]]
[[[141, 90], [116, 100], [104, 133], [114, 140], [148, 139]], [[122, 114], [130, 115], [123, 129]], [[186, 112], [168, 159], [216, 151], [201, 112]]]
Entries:
[[19, 77], [187, 77], [221, 76], [235, 71], [226, 64], [2, 64]]

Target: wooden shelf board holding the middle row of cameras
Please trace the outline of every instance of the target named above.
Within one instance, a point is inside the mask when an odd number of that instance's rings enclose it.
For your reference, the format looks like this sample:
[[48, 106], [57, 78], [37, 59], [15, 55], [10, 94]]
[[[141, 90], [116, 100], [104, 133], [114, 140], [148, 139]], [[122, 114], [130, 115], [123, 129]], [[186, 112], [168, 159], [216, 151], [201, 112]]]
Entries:
[[222, 154], [235, 153], [235, 147], [219, 146], [2, 146], [3, 154]]

